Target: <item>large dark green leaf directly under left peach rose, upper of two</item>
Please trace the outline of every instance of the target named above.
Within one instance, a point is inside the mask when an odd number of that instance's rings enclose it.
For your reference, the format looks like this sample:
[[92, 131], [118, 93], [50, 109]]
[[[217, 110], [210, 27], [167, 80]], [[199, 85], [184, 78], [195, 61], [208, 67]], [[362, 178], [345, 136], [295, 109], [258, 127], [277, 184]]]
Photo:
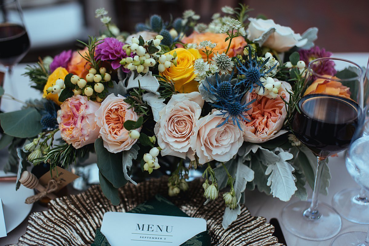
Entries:
[[97, 138], [95, 141], [97, 156], [97, 167], [104, 177], [113, 184], [115, 188], [124, 186], [127, 180], [123, 179], [122, 152], [111, 153], [105, 147], [103, 140]]

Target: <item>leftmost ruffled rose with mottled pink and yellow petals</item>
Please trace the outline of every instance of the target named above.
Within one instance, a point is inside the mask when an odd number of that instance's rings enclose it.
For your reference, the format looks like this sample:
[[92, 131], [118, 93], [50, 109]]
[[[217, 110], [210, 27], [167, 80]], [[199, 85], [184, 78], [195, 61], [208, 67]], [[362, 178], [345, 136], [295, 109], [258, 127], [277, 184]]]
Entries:
[[92, 144], [99, 137], [95, 112], [100, 103], [87, 100], [87, 96], [75, 95], [68, 98], [58, 110], [61, 136], [76, 149]]

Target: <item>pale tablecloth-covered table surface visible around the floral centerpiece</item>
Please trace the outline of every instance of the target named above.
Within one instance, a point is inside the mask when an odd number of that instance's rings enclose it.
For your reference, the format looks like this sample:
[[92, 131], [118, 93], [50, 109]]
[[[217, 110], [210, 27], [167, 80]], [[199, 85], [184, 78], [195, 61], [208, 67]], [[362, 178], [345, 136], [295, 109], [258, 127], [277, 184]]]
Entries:
[[[333, 56], [354, 61], [360, 66], [366, 66], [368, 62], [369, 53], [335, 53]], [[19, 96], [17, 96], [17, 98], [21, 100], [26, 100], [28, 98], [37, 98], [39, 96], [38, 91], [34, 89], [29, 89], [28, 79], [20, 75], [24, 73], [24, 67], [25, 67], [24, 64], [20, 64], [17, 67], [15, 67], [14, 70], [14, 79], [13, 79], [14, 84], [16, 84], [17, 88], [21, 88], [20, 90], [17, 90], [19, 93]], [[10, 83], [7, 83], [7, 81], [5, 81], [4, 85], [5, 91], [10, 91], [9, 84]], [[20, 106], [21, 106], [20, 103], [16, 103], [13, 101], [6, 102], [5, 100], [3, 100], [1, 102], [1, 110], [4, 111], [16, 110]], [[6, 160], [6, 151], [4, 150], [0, 151], [0, 166], [1, 164], [4, 163], [5, 160]], [[328, 196], [320, 195], [319, 200], [321, 202], [331, 204], [332, 197], [334, 196], [335, 193], [349, 187], [358, 187], [358, 185], [356, 185], [354, 180], [351, 178], [351, 176], [349, 176], [348, 172], [346, 171], [343, 153], [340, 153], [338, 157], [330, 158], [328, 166], [331, 170], [332, 176], [329, 186], [329, 194]], [[307, 190], [309, 197], [311, 197], [312, 191], [310, 187], [307, 187]], [[266, 194], [260, 193], [256, 190], [246, 191], [245, 195], [246, 195], [245, 205], [249, 208], [252, 215], [265, 217], [268, 221], [271, 218], [277, 218], [279, 220], [279, 223], [282, 226], [284, 238], [286, 239], [288, 246], [305, 246], [305, 245], [329, 246], [331, 242], [334, 240], [334, 238], [332, 238], [325, 241], [317, 242], [304, 240], [298, 238], [297, 236], [292, 235], [283, 227], [280, 219], [280, 212], [287, 203], [282, 202], [277, 198], [273, 198], [272, 196], [267, 196]], [[298, 200], [296, 197], [293, 197], [291, 199], [291, 201], [296, 200]], [[46, 209], [45, 207], [41, 207], [40, 205], [35, 204], [31, 212], [42, 211], [45, 209]], [[7, 237], [0, 238], [0, 246], [7, 245], [10, 243], [17, 243], [18, 238], [25, 233], [26, 227], [27, 227], [27, 219], [25, 219], [25, 221], [23, 221], [22, 224], [20, 224], [17, 228], [15, 228], [14, 231], [8, 233]], [[342, 218], [342, 229], [338, 235], [351, 231], [366, 232], [367, 230], [368, 225], [355, 224]]]

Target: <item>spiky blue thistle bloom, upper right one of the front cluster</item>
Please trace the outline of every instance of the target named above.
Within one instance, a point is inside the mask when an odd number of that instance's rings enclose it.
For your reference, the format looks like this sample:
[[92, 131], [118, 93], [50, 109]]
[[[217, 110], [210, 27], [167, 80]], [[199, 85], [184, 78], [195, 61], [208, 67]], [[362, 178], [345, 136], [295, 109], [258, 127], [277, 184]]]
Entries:
[[[273, 69], [277, 66], [275, 64], [270, 69], [264, 71], [263, 68], [265, 64], [269, 61], [269, 57], [265, 59], [264, 62], [258, 61], [258, 56], [255, 53], [254, 59], [252, 59], [252, 51], [251, 46], [249, 46], [249, 59], [246, 61], [245, 64], [242, 64], [242, 62], [237, 58], [238, 66], [238, 74], [241, 75], [241, 80], [237, 83], [237, 85], [244, 85], [245, 88], [250, 87], [250, 91], [254, 89], [254, 87], [263, 87], [262, 82], [260, 81], [261, 77], [265, 77], [267, 74], [269, 74]], [[263, 87], [264, 88], [264, 87]]]

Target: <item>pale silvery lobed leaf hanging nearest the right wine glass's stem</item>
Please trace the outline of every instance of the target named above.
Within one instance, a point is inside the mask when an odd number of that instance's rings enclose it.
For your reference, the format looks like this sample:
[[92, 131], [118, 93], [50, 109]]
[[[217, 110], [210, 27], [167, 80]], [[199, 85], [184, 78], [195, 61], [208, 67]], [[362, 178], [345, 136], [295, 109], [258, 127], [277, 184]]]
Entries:
[[273, 197], [278, 197], [281, 201], [289, 201], [297, 190], [292, 172], [294, 168], [287, 160], [292, 159], [293, 155], [289, 152], [280, 152], [279, 161], [266, 168], [265, 175], [270, 175], [267, 185]]

